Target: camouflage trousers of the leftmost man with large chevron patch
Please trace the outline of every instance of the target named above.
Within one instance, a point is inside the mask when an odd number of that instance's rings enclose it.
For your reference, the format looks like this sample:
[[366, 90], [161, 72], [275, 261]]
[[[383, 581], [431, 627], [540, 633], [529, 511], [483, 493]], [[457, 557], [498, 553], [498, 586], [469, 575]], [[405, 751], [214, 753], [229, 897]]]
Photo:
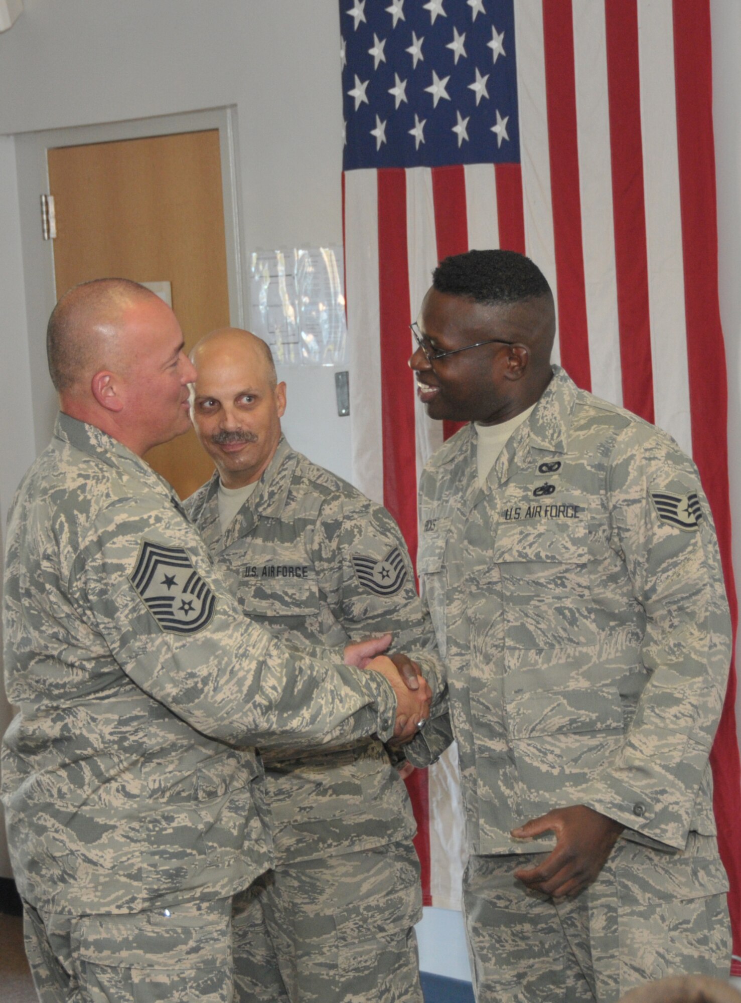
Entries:
[[40, 914], [24, 937], [41, 1003], [231, 1003], [231, 899], [120, 916]]

